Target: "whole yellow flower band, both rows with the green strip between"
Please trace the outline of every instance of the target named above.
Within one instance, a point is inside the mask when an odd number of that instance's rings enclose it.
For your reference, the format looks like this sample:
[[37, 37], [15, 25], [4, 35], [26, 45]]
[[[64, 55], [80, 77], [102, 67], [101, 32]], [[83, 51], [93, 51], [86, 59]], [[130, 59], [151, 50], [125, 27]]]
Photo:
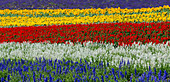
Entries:
[[[1, 13], [2, 15], [0, 18], [0, 26], [9, 27], [9, 26], [37, 26], [37, 25], [63, 25], [63, 24], [67, 25], [67, 24], [115, 23], [115, 22], [149, 23], [170, 21], [170, 16], [168, 13], [170, 10], [169, 6], [159, 7], [155, 9], [148, 8], [136, 10], [132, 9], [120, 10], [118, 8], [117, 10], [116, 9], [112, 10], [108, 8], [87, 10], [59, 9], [57, 10], [58, 12], [55, 12], [55, 10], [53, 11], [42, 10], [44, 13], [41, 13], [42, 11], [36, 10], [25, 10], [18, 12], [15, 11], [8, 12], [9, 10], [4, 10], [4, 13]], [[157, 12], [158, 10], [159, 11], [161, 10], [161, 12]], [[139, 11], [143, 13], [140, 13]]]

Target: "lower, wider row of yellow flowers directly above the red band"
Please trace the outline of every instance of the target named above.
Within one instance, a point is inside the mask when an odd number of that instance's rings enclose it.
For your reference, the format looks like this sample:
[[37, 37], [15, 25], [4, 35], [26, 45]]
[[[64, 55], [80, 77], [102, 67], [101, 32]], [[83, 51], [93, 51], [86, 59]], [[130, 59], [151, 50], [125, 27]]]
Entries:
[[63, 25], [63, 24], [89, 24], [97, 22], [158, 22], [169, 21], [170, 13], [149, 13], [132, 15], [99, 15], [85, 17], [0, 17], [0, 26], [34, 26], [34, 25]]

